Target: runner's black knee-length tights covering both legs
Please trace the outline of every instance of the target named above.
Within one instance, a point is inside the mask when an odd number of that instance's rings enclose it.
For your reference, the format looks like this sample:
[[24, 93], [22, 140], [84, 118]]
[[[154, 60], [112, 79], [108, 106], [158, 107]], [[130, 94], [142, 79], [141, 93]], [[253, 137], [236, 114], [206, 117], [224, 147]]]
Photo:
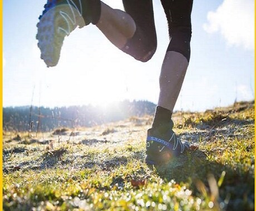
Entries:
[[[137, 30], [131, 44], [142, 46], [140, 49], [131, 49], [136, 54], [149, 51], [147, 48], [156, 47], [156, 31], [152, 0], [122, 0], [125, 11], [134, 19]], [[191, 39], [191, 10], [193, 0], [161, 0], [168, 22], [169, 36], [171, 41], [168, 51], [182, 53], [189, 61]], [[145, 40], [144, 44], [139, 41]], [[139, 43], [139, 44], [138, 44]], [[152, 45], [150, 45], [152, 43]], [[185, 43], [185, 44], [184, 44]], [[142, 50], [141, 50], [142, 49]], [[140, 52], [139, 54], [143, 54]], [[140, 56], [141, 57], [141, 56]], [[151, 57], [150, 57], [151, 58]]]

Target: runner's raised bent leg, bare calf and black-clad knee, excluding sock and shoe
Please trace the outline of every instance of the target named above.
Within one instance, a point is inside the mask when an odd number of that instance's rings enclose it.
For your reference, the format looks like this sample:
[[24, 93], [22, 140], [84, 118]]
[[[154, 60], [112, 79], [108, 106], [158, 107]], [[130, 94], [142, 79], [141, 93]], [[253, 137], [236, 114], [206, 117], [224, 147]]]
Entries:
[[156, 32], [152, 0], [123, 0], [126, 12], [101, 2], [96, 26], [117, 48], [146, 62], [156, 50]]

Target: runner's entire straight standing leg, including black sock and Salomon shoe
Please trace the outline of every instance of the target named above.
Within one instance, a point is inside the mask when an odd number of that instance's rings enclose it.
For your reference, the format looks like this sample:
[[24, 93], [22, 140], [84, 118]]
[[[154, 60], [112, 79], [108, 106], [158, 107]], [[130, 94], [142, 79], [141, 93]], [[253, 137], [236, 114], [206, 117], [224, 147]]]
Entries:
[[168, 19], [170, 43], [160, 73], [160, 94], [152, 128], [147, 131], [146, 163], [166, 162], [189, 149], [173, 131], [174, 105], [190, 59], [193, 0], [161, 0]]

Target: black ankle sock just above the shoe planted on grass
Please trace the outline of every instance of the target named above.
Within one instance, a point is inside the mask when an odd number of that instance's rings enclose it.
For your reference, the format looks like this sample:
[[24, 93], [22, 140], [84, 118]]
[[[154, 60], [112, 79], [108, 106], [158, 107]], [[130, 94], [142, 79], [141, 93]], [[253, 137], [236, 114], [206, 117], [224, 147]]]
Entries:
[[170, 129], [173, 127], [173, 121], [171, 120], [171, 112], [169, 109], [163, 108], [161, 106], [156, 107], [155, 117], [152, 123], [152, 128], [157, 129]]

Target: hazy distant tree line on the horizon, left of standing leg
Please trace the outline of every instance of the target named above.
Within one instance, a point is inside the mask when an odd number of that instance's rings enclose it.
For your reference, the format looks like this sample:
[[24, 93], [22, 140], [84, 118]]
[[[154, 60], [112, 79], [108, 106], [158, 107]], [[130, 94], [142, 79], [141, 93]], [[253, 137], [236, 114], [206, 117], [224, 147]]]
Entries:
[[109, 105], [70, 107], [18, 106], [3, 108], [3, 129], [15, 131], [51, 131], [60, 127], [91, 127], [132, 116], [153, 115], [155, 104], [149, 101], [122, 101]]

